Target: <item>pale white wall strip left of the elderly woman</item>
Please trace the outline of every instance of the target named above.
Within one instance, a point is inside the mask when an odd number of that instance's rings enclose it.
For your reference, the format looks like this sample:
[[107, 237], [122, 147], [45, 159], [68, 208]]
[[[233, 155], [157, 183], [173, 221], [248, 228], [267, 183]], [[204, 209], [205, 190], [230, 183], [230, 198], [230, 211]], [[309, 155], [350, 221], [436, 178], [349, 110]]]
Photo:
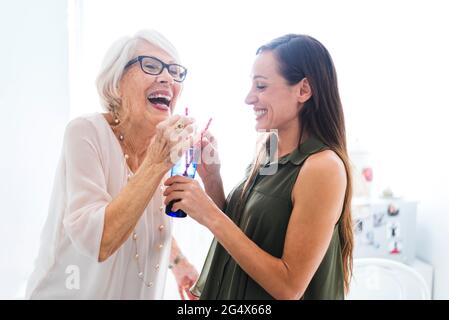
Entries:
[[69, 118], [67, 3], [0, 2], [0, 298], [23, 292]]

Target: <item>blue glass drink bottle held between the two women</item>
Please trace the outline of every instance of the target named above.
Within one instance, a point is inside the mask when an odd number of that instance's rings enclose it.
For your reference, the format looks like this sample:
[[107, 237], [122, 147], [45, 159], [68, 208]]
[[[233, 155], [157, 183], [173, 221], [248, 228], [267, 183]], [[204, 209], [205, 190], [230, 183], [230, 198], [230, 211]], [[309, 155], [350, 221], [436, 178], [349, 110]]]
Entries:
[[[186, 153], [179, 159], [179, 161], [172, 167], [170, 175], [171, 176], [184, 176], [191, 179], [195, 178], [196, 166], [197, 166], [197, 155], [196, 149], [190, 148]], [[165, 207], [165, 213], [174, 218], [185, 218], [187, 214], [182, 211], [172, 211], [173, 204], [179, 200], [170, 201], [170, 203]]]

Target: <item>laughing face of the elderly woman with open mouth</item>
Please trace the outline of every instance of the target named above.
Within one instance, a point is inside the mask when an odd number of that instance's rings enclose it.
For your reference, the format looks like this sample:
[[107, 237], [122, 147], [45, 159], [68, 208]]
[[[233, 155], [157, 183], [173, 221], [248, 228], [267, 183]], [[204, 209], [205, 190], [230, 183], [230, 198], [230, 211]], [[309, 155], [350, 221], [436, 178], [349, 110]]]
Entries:
[[[176, 63], [161, 48], [142, 41], [136, 52], [137, 56], [152, 56], [165, 63]], [[134, 63], [120, 80], [122, 107], [127, 109], [131, 121], [146, 121], [156, 125], [172, 114], [182, 84], [173, 80], [164, 68], [159, 75], [144, 73], [140, 63]]]

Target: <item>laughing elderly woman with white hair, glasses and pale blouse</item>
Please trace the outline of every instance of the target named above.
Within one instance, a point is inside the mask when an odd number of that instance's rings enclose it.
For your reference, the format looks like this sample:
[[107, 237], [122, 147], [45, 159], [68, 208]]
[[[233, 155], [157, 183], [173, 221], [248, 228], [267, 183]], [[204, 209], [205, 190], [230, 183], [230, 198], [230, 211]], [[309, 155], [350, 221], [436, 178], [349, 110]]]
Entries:
[[97, 78], [107, 113], [66, 128], [28, 298], [161, 299], [168, 268], [192, 298], [198, 274], [172, 241], [161, 194], [192, 143], [193, 119], [172, 116], [186, 72], [155, 31], [110, 48]]

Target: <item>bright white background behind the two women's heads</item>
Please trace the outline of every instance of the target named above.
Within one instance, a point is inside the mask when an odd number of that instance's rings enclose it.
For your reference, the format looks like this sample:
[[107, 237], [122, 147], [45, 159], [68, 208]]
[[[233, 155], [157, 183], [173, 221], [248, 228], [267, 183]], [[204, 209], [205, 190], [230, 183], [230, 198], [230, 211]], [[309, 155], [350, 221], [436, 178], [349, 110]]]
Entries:
[[[420, 196], [403, 163], [426, 161], [417, 147], [437, 147], [444, 133], [449, 69], [444, 1], [76, 3], [72, 117], [98, 110], [94, 79], [112, 41], [140, 28], [157, 29], [178, 47], [189, 68], [178, 112], [188, 106], [199, 123], [214, 117], [211, 130], [225, 150], [229, 189], [250, 159], [255, 136], [251, 108], [243, 102], [255, 51], [276, 36], [306, 33], [334, 58], [349, 143], [362, 141], [375, 155], [378, 191], [389, 185], [399, 194]], [[236, 154], [241, 161], [226, 161]]]

